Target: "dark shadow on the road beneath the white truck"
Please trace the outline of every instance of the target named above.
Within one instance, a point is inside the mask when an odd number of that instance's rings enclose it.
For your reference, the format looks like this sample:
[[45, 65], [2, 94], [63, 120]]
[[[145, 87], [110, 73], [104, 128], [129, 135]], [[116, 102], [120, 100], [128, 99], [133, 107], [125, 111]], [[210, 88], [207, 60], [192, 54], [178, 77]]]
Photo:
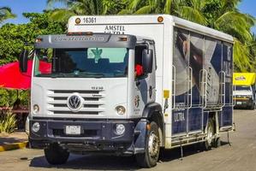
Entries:
[[[227, 145], [223, 142], [221, 145]], [[203, 152], [199, 144], [193, 144], [183, 147], [183, 157]], [[171, 162], [173, 160], [181, 160], [181, 149], [161, 151], [159, 162]], [[91, 155], [70, 155], [68, 162], [63, 165], [49, 164], [45, 156], [34, 157], [29, 167], [32, 168], [63, 168], [63, 169], [81, 169], [81, 170], [139, 170], [134, 156], [91, 156]]]

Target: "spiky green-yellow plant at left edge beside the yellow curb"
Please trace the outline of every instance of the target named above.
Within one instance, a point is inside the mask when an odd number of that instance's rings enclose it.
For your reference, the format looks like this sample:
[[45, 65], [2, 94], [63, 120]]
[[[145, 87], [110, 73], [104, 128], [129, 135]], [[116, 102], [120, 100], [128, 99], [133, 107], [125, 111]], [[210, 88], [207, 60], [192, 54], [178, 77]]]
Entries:
[[14, 133], [16, 127], [15, 115], [11, 111], [3, 112], [0, 115], [0, 133]]

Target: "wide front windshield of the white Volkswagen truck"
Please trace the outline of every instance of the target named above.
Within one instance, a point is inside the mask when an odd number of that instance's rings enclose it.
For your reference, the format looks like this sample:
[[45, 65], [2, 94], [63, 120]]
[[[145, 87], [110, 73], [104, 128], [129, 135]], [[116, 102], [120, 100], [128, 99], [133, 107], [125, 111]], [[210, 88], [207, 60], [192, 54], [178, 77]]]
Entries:
[[127, 48], [39, 49], [35, 54], [36, 77], [126, 77]]

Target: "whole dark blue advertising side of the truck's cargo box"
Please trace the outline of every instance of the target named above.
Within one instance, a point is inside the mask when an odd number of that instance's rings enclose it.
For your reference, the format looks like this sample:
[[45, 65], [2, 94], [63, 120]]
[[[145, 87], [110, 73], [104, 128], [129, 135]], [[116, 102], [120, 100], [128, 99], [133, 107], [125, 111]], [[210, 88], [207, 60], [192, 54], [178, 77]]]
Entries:
[[219, 111], [221, 127], [232, 126], [232, 45], [175, 27], [173, 54], [173, 137], [203, 133], [209, 111]]

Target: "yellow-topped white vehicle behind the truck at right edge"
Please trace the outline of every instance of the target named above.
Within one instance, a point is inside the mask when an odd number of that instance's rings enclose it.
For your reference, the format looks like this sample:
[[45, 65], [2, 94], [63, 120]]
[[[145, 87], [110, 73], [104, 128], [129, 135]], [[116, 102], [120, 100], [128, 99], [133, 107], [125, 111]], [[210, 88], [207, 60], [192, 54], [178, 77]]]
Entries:
[[233, 84], [235, 85], [234, 100], [235, 108], [255, 108], [255, 73], [234, 73]]

